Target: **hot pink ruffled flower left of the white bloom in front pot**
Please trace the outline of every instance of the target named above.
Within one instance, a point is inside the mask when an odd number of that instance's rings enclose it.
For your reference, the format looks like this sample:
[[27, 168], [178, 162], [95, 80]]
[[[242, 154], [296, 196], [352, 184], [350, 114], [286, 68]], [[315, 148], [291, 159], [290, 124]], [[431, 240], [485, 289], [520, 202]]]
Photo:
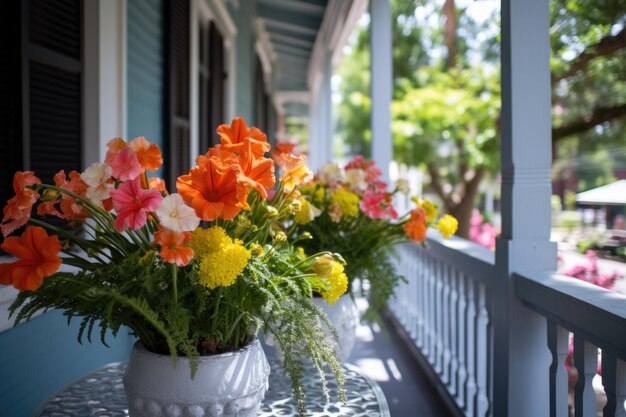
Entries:
[[117, 212], [113, 226], [120, 232], [127, 227], [137, 230], [146, 224], [148, 212], [156, 210], [163, 200], [158, 190], [142, 189], [139, 178], [126, 181], [117, 190], [111, 190], [111, 197]]

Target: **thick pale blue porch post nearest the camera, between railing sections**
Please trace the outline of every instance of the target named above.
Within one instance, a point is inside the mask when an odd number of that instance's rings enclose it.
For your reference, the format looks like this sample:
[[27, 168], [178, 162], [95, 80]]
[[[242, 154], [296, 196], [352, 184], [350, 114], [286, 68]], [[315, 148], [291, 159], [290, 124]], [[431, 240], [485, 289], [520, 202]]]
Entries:
[[502, 0], [502, 235], [494, 295], [495, 416], [548, 416], [546, 320], [515, 297], [512, 273], [554, 271], [550, 242], [549, 0]]

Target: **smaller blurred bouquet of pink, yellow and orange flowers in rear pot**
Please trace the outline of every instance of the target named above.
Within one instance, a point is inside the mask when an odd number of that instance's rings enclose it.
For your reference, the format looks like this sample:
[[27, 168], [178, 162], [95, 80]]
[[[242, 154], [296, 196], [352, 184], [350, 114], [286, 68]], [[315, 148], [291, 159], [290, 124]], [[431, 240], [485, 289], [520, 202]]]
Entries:
[[361, 156], [343, 169], [326, 164], [313, 181], [300, 188], [300, 207], [290, 229], [294, 235], [309, 233], [313, 237], [301, 242], [306, 252], [341, 253], [351, 294], [354, 279], [370, 283], [366, 319], [378, 318], [377, 312], [403, 279], [389, 256], [393, 246], [410, 240], [423, 243], [428, 226], [445, 237], [454, 234], [458, 226], [450, 215], [438, 218], [435, 204], [419, 197], [412, 199], [416, 207], [399, 217], [393, 196], [408, 194], [408, 184], [399, 181], [390, 191], [381, 176], [375, 162]]

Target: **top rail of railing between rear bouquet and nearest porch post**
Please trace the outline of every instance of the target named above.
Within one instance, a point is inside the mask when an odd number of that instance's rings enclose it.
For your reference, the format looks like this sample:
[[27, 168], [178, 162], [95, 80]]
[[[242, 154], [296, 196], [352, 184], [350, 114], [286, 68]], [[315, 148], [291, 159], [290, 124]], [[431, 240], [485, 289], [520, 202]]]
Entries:
[[[495, 279], [495, 252], [472, 241], [455, 236], [444, 239], [435, 230], [428, 231], [429, 248], [426, 254], [462, 271], [470, 278], [491, 286]], [[411, 250], [421, 250], [415, 243], [403, 245]]]

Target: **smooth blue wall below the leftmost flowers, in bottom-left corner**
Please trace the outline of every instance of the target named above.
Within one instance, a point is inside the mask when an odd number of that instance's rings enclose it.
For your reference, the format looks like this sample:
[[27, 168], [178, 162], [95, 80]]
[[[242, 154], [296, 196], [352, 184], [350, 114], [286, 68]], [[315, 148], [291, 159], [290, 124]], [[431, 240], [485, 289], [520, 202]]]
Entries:
[[[120, 330], [110, 348], [76, 340], [80, 320], [51, 311], [0, 333], [0, 416], [27, 416], [63, 385], [109, 362], [128, 360], [134, 339]], [[96, 334], [94, 333], [94, 336]]]

